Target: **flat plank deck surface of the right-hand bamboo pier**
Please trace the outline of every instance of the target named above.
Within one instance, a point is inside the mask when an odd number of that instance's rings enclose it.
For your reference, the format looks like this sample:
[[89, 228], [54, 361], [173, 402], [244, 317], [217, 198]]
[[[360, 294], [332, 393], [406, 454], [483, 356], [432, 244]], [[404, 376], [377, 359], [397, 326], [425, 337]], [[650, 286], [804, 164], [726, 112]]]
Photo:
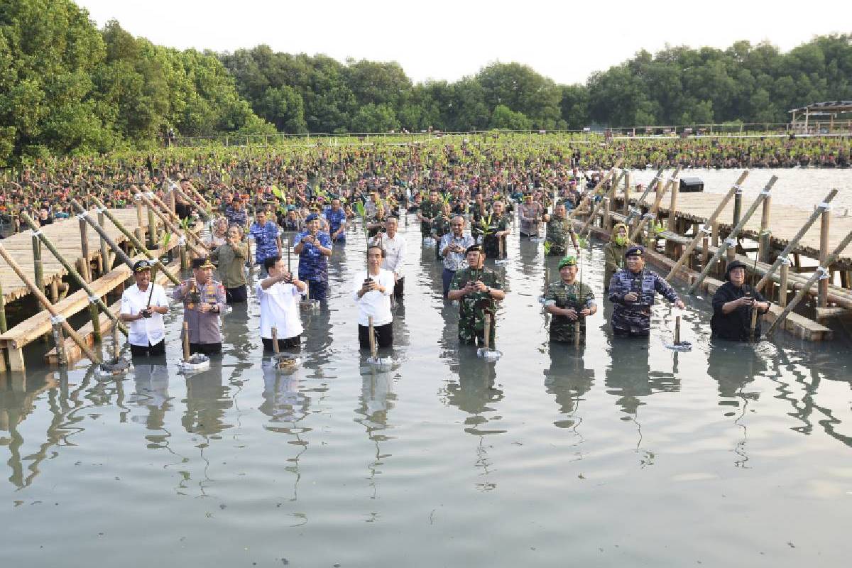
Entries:
[[[826, 193], [828, 191], [826, 190]], [[636, 205], [636, 200], [639, 196], [636, 193], [631, 194], [630, 203]], [[705, 223], [718, 204], [722, 201], [724, 195], [722, 193], [678, 193], [676, 216], [681, 219], [687, 219], [696, 223]], [[624, 194], [618, 193], [617, 198], [624, 203]], [[751, 205], [753, 197], [743, 196], [742, 210], [745, 212]], [[653, 203], [653, 194], [646, 198], [646, 204]], [[659, 206], [659, 215], [666, 217], [669, 215], [669, 194], [663, 197], [663, 202]], [[809, 216], [814, 212], [816, 204], [802, 204], [802, 208], [795, 208], [785, 204], [773, 203], [770, 207], [769, 229], [772, 231], [772, 244], [783, 249], [790, 242], [798, 230], [802, 228]], [[808, 209], [809, 208], [809, 209]], [[758, 209], [751, 219], [746, 223], [746, 227], [740, 232], [740, 236], [757, 239], [760, 234], [760, 217], [761, 210]], [[734, 199], [728, 202], [722, 214], [719, 215], [719, 227], [722, 232], [734, 227]], [[849, 231], [852, 231], [852, 216], [834, 215], [832, 213], [831, 231], [828, 239], [828, 250], [840, 244]], [[820, 256], [820, 223], [816, 222], [805, 233], [802, 240], [797, 244], [794, 252], [809, 256], [811, 258], [819, 258]], [[847, 269], [852, 268], [852, 246], [847, 248], [841, 255], [838, 265], [843, 265]]]

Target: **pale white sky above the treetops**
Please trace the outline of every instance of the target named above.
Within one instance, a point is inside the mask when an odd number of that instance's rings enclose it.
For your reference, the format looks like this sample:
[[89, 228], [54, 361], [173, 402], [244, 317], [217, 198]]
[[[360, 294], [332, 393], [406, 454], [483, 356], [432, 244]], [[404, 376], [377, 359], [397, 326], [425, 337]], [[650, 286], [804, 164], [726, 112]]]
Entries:
[[[518, 62], [556, 83], [585, 83], [640, 49], [725, 49], [769, 41], [782, 51], [816, 35], [852, 33], [852, 1], [796, 5], [713, 2], [525, 0], [77, 0], [97, 26], [118, 20], [135, 36], [177, 49], [325, 54], [344, 61], [397, 61], [413, 81], [456, 81], [495, 61]], [[845, 29], [843, 26], [846, 26]]]

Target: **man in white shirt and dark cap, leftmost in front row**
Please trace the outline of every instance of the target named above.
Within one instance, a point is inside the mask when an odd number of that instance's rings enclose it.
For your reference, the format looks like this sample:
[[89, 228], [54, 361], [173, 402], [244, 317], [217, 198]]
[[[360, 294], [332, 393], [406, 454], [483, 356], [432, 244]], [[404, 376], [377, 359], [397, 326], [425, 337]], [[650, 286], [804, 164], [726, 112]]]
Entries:
[[121, 295], [118, 315], [130, 324], [128, 341], [133, 357], [165, 354], [165, 326], [163, 314], [169, 312], [169, 300], [163, 286], [151, 282], [151, 263], [138, 261], [133, 265], [136, 284]]

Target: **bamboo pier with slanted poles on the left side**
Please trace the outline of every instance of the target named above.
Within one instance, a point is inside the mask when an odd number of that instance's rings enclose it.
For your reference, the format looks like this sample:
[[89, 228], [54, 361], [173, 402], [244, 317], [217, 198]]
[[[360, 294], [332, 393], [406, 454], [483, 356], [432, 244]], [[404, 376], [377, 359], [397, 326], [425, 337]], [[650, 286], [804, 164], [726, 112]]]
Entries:
[[[25, 347], [46, 338], [59, 323], [64, 326], [79, 313], [88, 313], [89, 321], [79, 330], [74, 330], [77, 336], [74, 341], [55, 336], [53, 349], [44, 354], [47, 363], [63, 364], [67, 361], [71, 364], [85, 357], [87, 349], [95, 347], [101, 336], [112, 329], [118, 316], [119, 302], [113, 301], [110, 305], [107, 295], [116, 296], [124, 291], [132, 276], [128, 262], [145, 259], [150, 254], [137, 246], [139, 243], [134, 243], [128, 233], [147, 235], [148, 244], [152, 241], [157, 244], [152, 235], [169, 231], [169, 227], [158, 221], [164, 215], [164, 211], [158, 210], [160, 205], [151, 203], [147, 208], [150, 215], [141, 215], [140, 205], [135, 209], [91, 209], [87, 211], [88, 218], [76, 215], [40, 227], [40, 235], [26, 231], [0, 240], [0, 247], [26, 277], [20, 278], [8, 262], [0, 260], [0, 372], [24, 371]], [[98, 221], [95, 221], [95, 214]], [[202, 227], [201, 223], [197, 223], [191, 231], [198, 233]], [[186, 235], [180, 229], [177, 231], [175, 238], [171, 238], [165, 246], [157, 246], [155, 258], [181, 246]], [[39, 236], [42, 238], [39, 239]], [[43, 247], [42, 241], [51, 244], [49, 248], [53, 251]], [[74, 270], [69, 271], [67, 267]], [[158, 272], [159, 283], [175, 278], [174, 274], [180, 272], [180, 264], [172, 262], [167, 269], [170, 273]], [[51, 317], [44, 310], [43, 301], [32, 301], [33, 297], [41, 295], [46, 296], [43, 300], [49, 302], [50, 309], [58, 317]], [[14, 324], [9, 329], [8, 320]], [[99, 353], [98, 349], [95, 349], [96, 353]]]

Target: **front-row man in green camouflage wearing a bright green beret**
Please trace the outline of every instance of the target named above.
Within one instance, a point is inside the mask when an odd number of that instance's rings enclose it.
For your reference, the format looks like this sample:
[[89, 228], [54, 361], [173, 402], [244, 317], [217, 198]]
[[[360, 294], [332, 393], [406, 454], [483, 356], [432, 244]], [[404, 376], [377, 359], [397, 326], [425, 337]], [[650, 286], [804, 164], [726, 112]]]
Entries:
[[559, 261], [560, 282], [548, 286], [544, 293], [544, 309], [550, 319], [550, 341], [574, 342], [574, 325], [579, 322], [580, 342], [585, 343], [585, 320], [597, 312], [595, 294], [589, 286], [577, 282], [577, 257]]

